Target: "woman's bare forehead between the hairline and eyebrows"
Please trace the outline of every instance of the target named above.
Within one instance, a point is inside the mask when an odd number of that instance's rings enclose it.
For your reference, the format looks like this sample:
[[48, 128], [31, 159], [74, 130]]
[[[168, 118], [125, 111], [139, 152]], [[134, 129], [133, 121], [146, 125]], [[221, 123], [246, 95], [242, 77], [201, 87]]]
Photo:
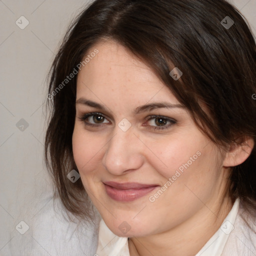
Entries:
[[151, 99], [178, 103], [154, 72], [124, 46], [114, 41], [99, 41], [86, 56], [95, 49], [98, 53], [78, 73], [77, 97], [107, 96], [122, 103], [130, 103], [131, 99], [138, 103]]

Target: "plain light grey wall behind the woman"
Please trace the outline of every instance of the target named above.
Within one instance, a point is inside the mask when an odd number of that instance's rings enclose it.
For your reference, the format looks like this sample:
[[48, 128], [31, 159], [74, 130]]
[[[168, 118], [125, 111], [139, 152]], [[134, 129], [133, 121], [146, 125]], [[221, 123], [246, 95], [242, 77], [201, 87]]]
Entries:
[[[29, 225], [49, 202], [42, 158], [45, 78], [68, 24], [88, 2], [0, 0], [0, 255], [21, 236], [15, 226], [21, 220]], [[256, 34], [256, 0], [230, 2]], [[21, 15], [29, 21], [24, 29], [15, 23], [25, 24]]]

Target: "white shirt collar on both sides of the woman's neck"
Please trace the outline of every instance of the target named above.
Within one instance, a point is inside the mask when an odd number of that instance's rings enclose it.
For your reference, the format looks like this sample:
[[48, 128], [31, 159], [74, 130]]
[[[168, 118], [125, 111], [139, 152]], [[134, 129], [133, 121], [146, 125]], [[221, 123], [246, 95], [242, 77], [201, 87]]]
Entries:
[[[220, 228], [211, 236], [195, 256], [219, 256], [233, 229], [234, 221], [239, 209], [239, 198], [236, 198], [232, 209], [223, 220]], [[96, 254], [100, 256], [130, 256], [128, 238], [115, 235], [101, 218], [99, 222], [98, 246]]]

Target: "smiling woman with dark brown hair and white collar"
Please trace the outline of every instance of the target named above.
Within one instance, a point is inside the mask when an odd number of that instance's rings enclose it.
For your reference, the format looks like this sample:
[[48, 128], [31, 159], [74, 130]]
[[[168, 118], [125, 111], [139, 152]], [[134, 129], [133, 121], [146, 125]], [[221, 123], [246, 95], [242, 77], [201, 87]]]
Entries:
[[77, 17], [45, 159], [70, 213], [99, 212], [97, 255], [256, 255], [255, 60], [224, 0], [96, 0]]

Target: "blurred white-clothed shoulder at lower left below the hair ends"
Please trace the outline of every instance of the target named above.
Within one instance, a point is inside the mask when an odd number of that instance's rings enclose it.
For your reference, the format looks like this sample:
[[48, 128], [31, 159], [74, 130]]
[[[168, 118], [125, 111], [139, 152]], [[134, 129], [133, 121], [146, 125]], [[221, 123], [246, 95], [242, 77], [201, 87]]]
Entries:
[[[93, 255], [97, 247], [98, 218], [95, 222], [68, 219], [58, 199], [52, 196], [40, 201], [34, 216], [25, 217], [29, 229], [15, 233], [11, 240], [11, 255]], [[16, 230], [14, 230], [15, 232]]]

